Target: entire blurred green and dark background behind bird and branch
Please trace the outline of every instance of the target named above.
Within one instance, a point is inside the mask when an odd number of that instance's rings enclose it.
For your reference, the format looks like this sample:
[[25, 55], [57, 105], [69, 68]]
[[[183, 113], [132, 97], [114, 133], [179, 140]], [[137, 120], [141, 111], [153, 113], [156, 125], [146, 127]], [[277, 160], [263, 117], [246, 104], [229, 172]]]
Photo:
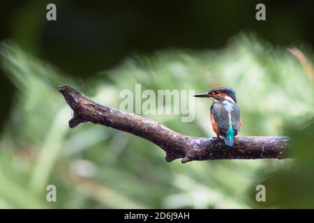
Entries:
[[[45, 19], [47, 3], [57, 21]], [[314, 208], [314, 3], [6, 1], [0, 7], [0, 208]], [[294, 48], [294, 55], [286, 48]], [[299, 50], [298, 50], [299, 49]], [[237, 92], [240, 135], [289, 135], [296, 160], [167, 163], [154, 144], [94, 124], [68, 128], [68, 84], [119, 108], [124, 89]], [[211, 137], [195, 120], [147, 115]], [[57, 202], [47, 202], [47, 185]], [[255, 200], [264, 184], [267, 201]]]

